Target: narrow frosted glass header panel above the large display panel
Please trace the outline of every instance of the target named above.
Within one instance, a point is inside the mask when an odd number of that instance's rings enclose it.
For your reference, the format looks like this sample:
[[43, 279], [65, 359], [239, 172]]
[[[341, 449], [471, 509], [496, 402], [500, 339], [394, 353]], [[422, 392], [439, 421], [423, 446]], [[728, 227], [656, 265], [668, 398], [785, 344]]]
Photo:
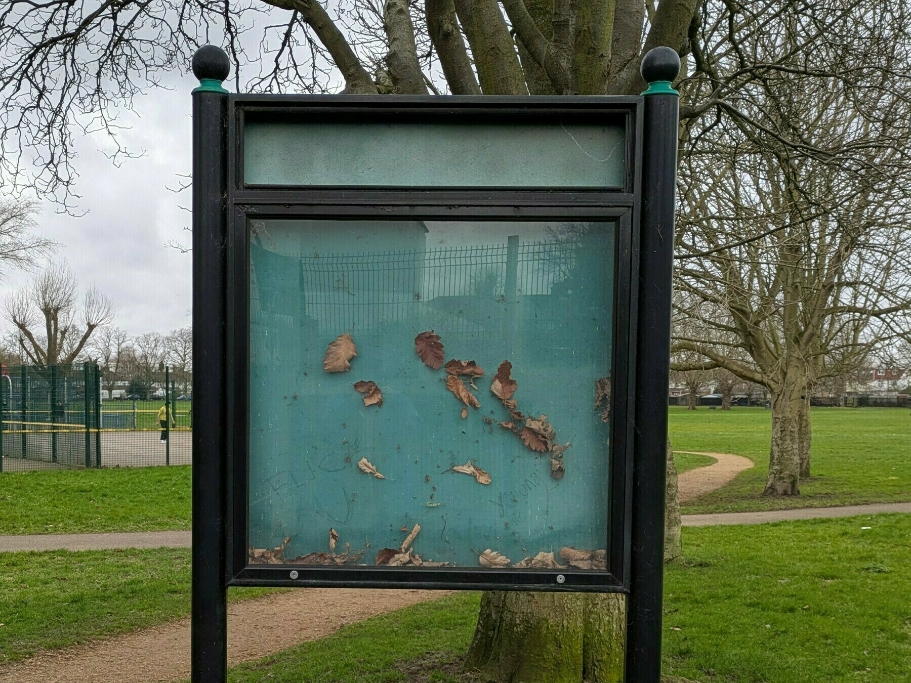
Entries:
[[244, 126], [246, 185], [621, 188], [619, 123], [258, 122]]

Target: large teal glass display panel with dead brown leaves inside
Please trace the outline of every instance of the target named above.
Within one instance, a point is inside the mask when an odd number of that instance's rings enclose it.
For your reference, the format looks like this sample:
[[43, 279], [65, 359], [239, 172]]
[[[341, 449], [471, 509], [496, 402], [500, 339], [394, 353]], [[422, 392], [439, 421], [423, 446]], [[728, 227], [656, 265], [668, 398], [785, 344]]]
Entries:
[[606, 570], [615, 233], [251, 220], [251, 564]]

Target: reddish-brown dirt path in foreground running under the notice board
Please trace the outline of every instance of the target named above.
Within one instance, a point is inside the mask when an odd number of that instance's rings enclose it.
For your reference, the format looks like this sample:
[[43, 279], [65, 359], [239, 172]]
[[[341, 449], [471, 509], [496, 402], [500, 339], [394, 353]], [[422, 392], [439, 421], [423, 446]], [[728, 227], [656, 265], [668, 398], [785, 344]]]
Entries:
[[[258, 659], [345, 624], [447, 595], [433, 590], [298, 588], [228, 608], [228, 661]], [[189, 678], [189, 618], [0, 668], [0, 683], [157, 683]]]

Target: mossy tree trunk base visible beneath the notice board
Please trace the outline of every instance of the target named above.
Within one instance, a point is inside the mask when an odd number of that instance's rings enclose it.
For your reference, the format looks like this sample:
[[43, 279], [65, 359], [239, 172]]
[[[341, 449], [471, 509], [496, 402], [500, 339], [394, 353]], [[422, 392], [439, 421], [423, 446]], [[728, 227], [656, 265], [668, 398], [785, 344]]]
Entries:
[[466, 670], [496, 683], [621, 683], [619, 594], [486, 592]]

